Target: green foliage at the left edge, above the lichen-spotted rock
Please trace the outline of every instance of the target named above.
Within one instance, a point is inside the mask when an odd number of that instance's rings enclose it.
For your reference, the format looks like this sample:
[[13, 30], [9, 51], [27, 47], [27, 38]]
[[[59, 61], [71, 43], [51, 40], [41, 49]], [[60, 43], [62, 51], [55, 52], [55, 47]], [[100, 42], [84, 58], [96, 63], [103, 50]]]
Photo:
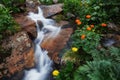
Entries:
[[[19, 31], [20, 27], [14, 22], [9, 9], [0, 4], [0, 44], [5, 38]], [[0, 46], [0, 53], [9, 53]]]

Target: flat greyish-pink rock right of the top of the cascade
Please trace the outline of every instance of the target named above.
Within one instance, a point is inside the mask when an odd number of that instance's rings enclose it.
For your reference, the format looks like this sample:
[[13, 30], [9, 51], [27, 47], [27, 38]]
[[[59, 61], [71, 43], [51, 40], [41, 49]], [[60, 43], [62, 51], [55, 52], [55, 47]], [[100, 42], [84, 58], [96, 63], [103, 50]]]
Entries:
[[40, 7], [42, 8], [45, 17], [51, 17], [57, 13], [62, 12], [62, 6], [63, 4], [54, 4], [49, 6], [41, 5]]

